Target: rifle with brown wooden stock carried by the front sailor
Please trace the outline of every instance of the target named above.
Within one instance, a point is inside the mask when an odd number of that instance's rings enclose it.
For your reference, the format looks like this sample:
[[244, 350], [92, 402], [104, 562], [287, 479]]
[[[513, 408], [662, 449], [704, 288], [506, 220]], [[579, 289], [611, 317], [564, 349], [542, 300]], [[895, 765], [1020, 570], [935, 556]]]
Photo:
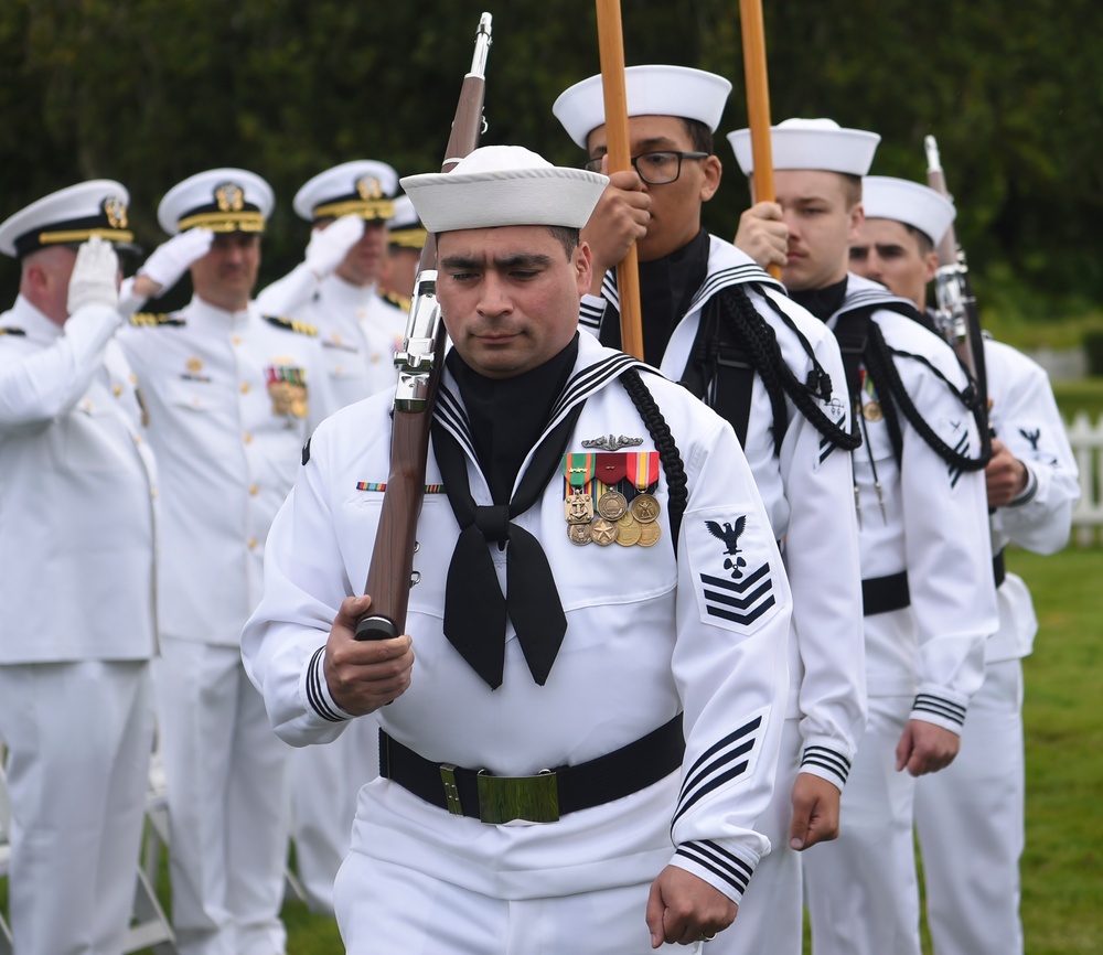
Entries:
[[[475, 34], [471, 69], [460, 88], [441, 172], [451, 170], [479, 144], [479, 136], [485, 127], [483, 94], [490, 44], [491, 14], [483, 13]], [[437, 302], [436, 267], [437, 243], [429, 236], [421, 250], [403, 348], [395, 354], [398, 385], [390, 434], [390, 474], [364, 586], [364, 592], [372, 597], [372, 605], [356, 624], [356, 640], [390, 640], [403, 633], [410, 588], [417, 583], [415, 535], [425, 496], [432, 406], [445, 360], [446, 334]]]

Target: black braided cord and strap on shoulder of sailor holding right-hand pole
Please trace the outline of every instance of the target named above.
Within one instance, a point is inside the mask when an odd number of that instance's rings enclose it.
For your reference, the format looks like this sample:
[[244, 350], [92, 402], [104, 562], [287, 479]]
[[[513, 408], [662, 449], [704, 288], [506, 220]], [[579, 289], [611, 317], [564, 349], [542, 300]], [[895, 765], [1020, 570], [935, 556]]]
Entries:
[[[963, 471], [983, 469], [992, 458], [992, 439], [984, 420], [984, 409], [979, 407], [972, 387], [960, 391], [922, 355], [893, 351], [885, 342], [880, 326], [874, 321], [874, 312], [877, 311], [897, 312], [938, 335], [930, 318], [907, 299], [876, 290], [848, 294], [843, 307], [836, 312], [838, 318], [835, 323], [835, 337], [838, 341], [839, 351], [843, 353], [843, 368], [846, 372], [847, 390], [850, 394], [850, 406], [855, 418], [861, 417], [863, 383], [860, 371], [864, 364], [882, 395], [881, 411], [885, 414], [885, 423], [892, 441], [892, 452], [897, 464], [901, 462], [903, 457], [903, 432], [900, 429], [899, 419], [899, 412], [902, 412], [931, 450], [943, 461], [954, 464]], [[941, 336], [939, 339], [942, 341]], [[982, 436], [978, 458], [966, 458], [957, 453], [955, 449], [943, 442], [934, 429], [923, 420], [919, 409], [908, 396], [899, 374], [897, 374], [897, 356], [915, 358], [927, 365], [957, 396], [962, 406], [973, 414]]]

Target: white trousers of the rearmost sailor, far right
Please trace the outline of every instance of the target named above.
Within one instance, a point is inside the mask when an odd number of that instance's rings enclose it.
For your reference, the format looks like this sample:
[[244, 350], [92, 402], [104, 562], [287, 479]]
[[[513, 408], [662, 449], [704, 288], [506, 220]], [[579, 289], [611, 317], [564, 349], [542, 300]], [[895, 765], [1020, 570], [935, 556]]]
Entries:
[[962, 748], [922, 776], [915, 824], [936, 955], [1021, 955], [1022, 666], [990, 663], [970, 702]]

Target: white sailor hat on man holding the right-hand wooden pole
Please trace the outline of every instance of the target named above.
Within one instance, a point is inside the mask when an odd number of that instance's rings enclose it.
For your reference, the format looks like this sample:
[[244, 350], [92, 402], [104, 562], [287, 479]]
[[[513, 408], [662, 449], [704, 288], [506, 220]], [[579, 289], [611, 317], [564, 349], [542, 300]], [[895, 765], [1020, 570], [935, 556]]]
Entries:
[[[865, 175], [881, 138], [864, 129], [844, 129], [834, 119], [786, 119], [770, 127], [774, 169], [817, 169]], [[754, 171], [751, 131], [728, 133], [745, 175]]]

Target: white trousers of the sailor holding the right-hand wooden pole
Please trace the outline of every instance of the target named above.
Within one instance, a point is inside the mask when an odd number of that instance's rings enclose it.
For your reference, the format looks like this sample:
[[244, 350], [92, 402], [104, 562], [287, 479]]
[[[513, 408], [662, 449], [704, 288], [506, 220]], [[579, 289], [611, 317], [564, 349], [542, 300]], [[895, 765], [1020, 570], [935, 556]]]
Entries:
[[839, 837], [804, 856], [813, 955], [919, 955], [915, 780], [896, 771], [912, 697], [870, 697]]

